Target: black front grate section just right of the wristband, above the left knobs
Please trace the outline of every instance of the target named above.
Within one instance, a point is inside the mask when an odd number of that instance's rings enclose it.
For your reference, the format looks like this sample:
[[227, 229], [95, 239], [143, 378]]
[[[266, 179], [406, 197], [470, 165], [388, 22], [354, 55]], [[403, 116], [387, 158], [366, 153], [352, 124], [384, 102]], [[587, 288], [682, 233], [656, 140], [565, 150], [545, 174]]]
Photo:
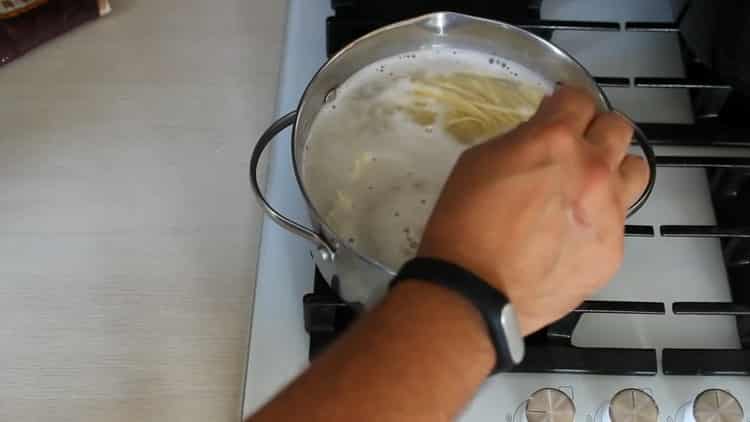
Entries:
[[587, 313], [662, 315], [660, 302], [589, 300], [546, 328], [542, 343], [531, 342], [514, 372], [606, 375], [655, 375], [656, 350], [612, 347], [576, 347], [573, 331]]

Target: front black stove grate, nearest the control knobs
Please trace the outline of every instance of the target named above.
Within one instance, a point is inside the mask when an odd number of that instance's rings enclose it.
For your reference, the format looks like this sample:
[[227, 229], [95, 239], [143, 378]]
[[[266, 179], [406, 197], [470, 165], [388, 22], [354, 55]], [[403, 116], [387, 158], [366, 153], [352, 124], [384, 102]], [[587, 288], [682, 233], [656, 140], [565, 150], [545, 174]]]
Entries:
[[[310, 360], [325, 350], [361, 312], [342, 301], [319, 271], [315, 290], [305, 295], [305, 329], [310, 334]], [[665, 375], [750, 375], [750, 306], [737, 303], [676, 302], [675, 315], [732, 315], [744, 327], [742, 349], [664, 349]], [[656, 375], [655, 349], [577, 347], [573, 332], [584, 314], [664, 315], [660, 302], [586, 301], [566, 317], [526, 338], [526, 355], [513, 371], [597, 375]]]

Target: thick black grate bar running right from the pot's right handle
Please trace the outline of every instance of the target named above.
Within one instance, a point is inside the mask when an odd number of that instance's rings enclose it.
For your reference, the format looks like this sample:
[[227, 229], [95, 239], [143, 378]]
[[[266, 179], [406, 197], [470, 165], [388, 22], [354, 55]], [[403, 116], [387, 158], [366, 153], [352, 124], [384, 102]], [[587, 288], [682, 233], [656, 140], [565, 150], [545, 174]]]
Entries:
[[750, 146], [750, 129], [721, 124], [638, 123], [656, 145]]

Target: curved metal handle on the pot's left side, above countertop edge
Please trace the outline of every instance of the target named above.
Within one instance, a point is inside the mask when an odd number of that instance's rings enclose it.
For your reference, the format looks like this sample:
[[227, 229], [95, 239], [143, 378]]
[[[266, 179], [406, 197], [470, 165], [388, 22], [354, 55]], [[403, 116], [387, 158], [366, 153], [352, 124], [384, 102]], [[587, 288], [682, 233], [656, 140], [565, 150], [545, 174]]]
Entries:
[[261, 137], [258, 139], [258, 143], [255, 144], [255, 148], [253, 148], [253, 154], [250, 157], [250, 187], [252, 187], [255, 197], [258, 198], [258, 203], [260, 204], [261, 208], [263, 208], [263, 211], [265, 211], [265, 213], [268, 214], [268, 216], [271, 217], [273, 221], [275, 221], [281, 227], [289, 230], [290, 232], [301, 236], [317, 245], [320, 255], [324, 260], [333, 259], [334, 249], [325, 239], [323, 239], [323, 236], [316, 233], [314, 230], [289, 219], [279, 211], [276, 211], [276, 209], [268, 203], [265, 196], [263, 196], [263, 192], [261, 192], [260, 190], [260, 183], [258, 182], [258, 164], [260, 163], [260, 156], [263, 154], [263, 151], [271, 143], [271, 141], [276, 137], [276, 135], [278, 135], [282, 130], [291, 126], [296, 118], [296, 111], [292, 111], [286, 114], [285, 116], [273, 122], [273, 124], [271, 124], [271, 126], [269, 126], [268, 129], [263, 132], [263, 135], [261, 135]]

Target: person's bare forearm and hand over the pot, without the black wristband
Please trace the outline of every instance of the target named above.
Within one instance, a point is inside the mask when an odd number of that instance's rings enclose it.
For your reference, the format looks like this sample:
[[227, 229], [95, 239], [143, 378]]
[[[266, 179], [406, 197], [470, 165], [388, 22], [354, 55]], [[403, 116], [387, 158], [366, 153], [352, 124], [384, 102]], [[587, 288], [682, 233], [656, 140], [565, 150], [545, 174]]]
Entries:
[[[632, 129], [560, 87], [527, 123], [466, 150], [419, 256], [464, 267], [513, 304], [523, 334], [570, 312], [622, 261], [648, 180]], [[252, 421], [447, 421], [495, 365], [479, 312], [433, 284], [399, 284]]]

